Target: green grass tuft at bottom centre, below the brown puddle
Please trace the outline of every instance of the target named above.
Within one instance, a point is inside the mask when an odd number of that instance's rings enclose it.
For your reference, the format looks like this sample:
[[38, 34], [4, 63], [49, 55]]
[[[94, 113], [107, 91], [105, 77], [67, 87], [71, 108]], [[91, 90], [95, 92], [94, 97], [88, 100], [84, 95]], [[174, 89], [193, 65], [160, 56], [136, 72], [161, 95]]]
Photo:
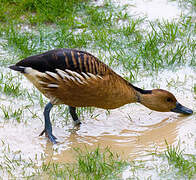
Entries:
[[97, 148], [93, 152], [87, 152], [85, 155], [79, 150], [78, 152], [78, 169], [79, 172], [87, 174], [86, 177], [91, 179], [107, 179], [119, 174], [122, 167], [127, 165], [120, 160], [119, 155], [115, 155], [109, 149], [101, 152]]

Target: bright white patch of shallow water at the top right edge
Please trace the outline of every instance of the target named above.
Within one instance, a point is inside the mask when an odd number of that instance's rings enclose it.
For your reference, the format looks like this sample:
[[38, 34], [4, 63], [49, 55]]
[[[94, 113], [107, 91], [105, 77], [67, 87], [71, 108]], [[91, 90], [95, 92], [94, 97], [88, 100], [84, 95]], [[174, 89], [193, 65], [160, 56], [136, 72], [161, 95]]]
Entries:
[[149, 20], [173, 20], [187, 12], [192, 12], [191, 6], [180, 6], [177, 1], [172, 0], [112, 0], [112, 2], [117, 5], [128, 5], [128, 12], [132, 16], [142, 18], [145, 16]]

